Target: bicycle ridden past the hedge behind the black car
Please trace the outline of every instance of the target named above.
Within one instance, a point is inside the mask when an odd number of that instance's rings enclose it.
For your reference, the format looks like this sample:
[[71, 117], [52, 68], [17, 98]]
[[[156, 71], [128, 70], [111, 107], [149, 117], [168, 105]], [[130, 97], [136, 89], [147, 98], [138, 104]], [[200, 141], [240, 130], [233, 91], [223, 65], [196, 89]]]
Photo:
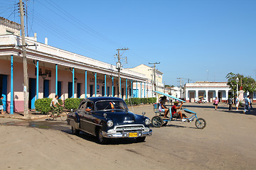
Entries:
[[67, 109], [65, 107], [58, 106], [53, 108], [51, 111], [47, 113], [47, 120], [57, 120], [60, 117], [61, 120], [67, 120]]

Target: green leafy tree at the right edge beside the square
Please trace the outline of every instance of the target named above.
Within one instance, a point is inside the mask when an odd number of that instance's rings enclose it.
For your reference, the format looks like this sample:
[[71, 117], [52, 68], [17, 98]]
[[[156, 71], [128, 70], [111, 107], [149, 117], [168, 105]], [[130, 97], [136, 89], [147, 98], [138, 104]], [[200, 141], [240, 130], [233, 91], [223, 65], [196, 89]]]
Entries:
[[236, 82], [237, 77], [239, 79], [238, 87], [240, 87], [242, 84], [242, 90], [246, 92], [248, 91], [250, 94], [252, 94], [253, 91], [255, 91], [256, 89], [255, 79], [252, 79], [252, 77], [249, 77], [249, 76], [244, 77], [242, 74], [234, 74], [233, 72], [230, 72], [229, 74], [227, 74], [225, 78], [228, 79], [228, 86], [230, 86], [230, 88], [235, 93], [237, 91], [237, 82]]

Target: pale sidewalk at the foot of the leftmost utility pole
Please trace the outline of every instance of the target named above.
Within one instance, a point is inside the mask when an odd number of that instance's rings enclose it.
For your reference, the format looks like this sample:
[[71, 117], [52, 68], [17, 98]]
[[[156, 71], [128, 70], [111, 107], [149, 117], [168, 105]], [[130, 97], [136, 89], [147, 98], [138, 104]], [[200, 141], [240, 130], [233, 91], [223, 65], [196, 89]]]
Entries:
[[46, 119], [47, 115], [43, 115], [41, 113], [36, 112], [36, 110], [28, 111], [28, 117], [23, 115], [23, 112], [14, 113], [14, 115], [10, 115], [9, 113], [0, 114], [0, 118], [14, 118], [21, 120], [37, 120], [37, 119]]

